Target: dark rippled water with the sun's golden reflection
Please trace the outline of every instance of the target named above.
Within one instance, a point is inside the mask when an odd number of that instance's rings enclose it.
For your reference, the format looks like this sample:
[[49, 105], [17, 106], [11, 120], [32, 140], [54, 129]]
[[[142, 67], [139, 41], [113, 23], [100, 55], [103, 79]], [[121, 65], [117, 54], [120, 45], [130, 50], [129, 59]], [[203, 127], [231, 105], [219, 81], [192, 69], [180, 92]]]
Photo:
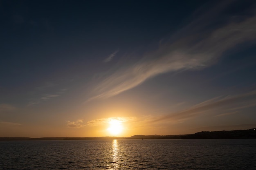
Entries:
[[256, 170], [256, 139], [0, 141], [1, 170]]

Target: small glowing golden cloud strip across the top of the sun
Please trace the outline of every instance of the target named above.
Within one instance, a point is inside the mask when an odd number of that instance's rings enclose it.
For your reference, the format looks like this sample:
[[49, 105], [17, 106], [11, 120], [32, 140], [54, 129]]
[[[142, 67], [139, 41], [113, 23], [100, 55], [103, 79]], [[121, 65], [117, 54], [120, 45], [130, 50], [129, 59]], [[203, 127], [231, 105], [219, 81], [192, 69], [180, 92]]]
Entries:
[[87, 122], [88, 126], [99, 126], [102, 124], [108, 124], [111, 120], [118, 120], [120, 122], [126, 122], [135, 120], [136, 117], [108, 117], [102, 119], [93, 119]]

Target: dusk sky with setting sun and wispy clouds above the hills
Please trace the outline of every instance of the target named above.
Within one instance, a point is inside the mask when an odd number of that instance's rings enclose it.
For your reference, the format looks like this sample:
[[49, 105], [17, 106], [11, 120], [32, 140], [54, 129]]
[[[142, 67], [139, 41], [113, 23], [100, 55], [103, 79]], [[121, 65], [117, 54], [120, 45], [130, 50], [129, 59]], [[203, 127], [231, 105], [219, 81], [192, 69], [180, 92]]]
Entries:
[[256, 127], [254, 0], [1, 0], [0, 137]]

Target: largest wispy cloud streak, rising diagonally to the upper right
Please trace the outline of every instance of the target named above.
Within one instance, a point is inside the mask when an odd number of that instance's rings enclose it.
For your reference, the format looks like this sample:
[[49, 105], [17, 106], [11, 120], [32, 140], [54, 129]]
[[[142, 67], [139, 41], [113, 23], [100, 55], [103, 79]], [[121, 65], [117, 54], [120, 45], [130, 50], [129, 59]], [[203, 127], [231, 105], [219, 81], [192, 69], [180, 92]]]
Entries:
[[214, 29], [210, 24], [214, 20], [209, 18], [192, 22], [139, 62], [120, 66], [91, 90], [92, 97], [87, 101], [118, 95], [159, 74], [203, 69], [215, 64], [225, 51], [255, 40], [256, 16], [241, 20], [225, 25], [218, 23]]

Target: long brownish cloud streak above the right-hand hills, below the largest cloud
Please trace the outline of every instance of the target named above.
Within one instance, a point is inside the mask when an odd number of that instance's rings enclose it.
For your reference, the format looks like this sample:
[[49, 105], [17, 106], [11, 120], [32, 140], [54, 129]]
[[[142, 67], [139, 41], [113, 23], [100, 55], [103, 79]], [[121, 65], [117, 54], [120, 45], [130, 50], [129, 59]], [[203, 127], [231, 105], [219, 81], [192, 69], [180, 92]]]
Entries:
[[[239, 95], [234, 96], [228, 96], [228, 97], [217, 97], [211, 100], [208, 100], [206, 102], [202, 102], [200, 104], [197, 104], [195, 106], [192, 106], [189, 109], [182, 110], [180, 112], [171, 113], [169, 115], [163, 116], [159, 119], [155, 119], [153, 122], [157, 121], [164, 121], [164, 120], [182, 120], [182, 119], [188, 119], [190, 117], [198, 116], [203, 113], [208, 113], [211, 111], [215, 111], [218, 113], [218, 111], [221, 109], [222, 111], [228, 111], [228, 110], [239, 110], [241, 108], [248, 108], [248, 107], [254, 107], [256, 106], [256, 91], [251, 91], [249, 93], [243, 93]], [[224, 116], [224, 115], [231, 115], [235, 114], [236, 111], [229, 112], [229, 113], [223, 113], [216, 116]]]

